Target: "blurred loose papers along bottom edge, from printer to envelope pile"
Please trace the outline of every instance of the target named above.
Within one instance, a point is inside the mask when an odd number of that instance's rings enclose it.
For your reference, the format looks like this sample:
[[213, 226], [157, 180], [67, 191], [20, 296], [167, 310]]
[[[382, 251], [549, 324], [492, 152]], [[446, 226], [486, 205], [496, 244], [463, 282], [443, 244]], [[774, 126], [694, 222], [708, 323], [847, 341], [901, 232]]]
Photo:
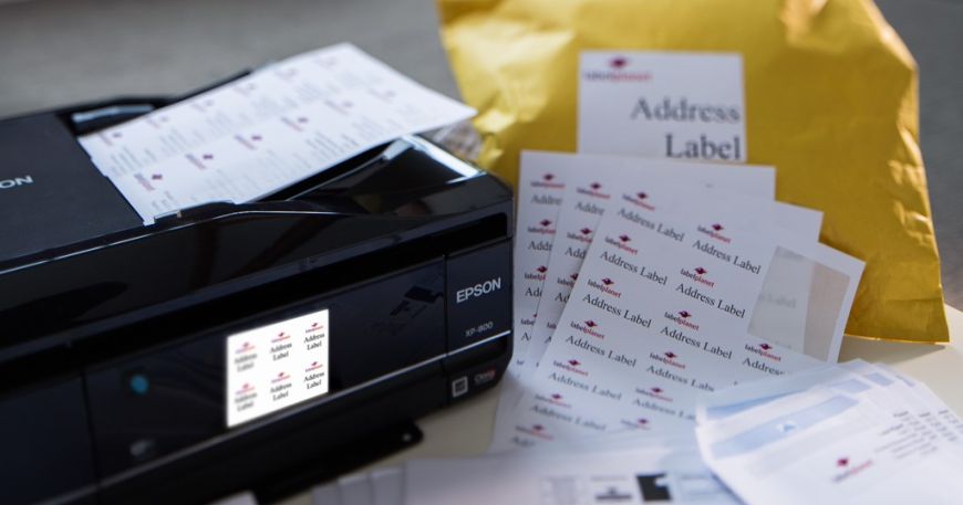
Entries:
[[411, 460], [317, 486], [314, 505], [736, 504], [692, 433], [594, 436], [473, 459]]

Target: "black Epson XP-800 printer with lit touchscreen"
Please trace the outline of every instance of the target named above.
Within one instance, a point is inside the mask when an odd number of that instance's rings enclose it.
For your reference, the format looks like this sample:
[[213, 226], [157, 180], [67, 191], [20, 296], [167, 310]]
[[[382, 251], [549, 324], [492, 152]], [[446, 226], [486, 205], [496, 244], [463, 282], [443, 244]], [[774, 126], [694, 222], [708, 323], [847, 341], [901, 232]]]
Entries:
[[411, 136], [143, 225], [76, 137], [165, 103], [0, 120], [0, 503], [270, 502], [500, 379], [509, 187]]

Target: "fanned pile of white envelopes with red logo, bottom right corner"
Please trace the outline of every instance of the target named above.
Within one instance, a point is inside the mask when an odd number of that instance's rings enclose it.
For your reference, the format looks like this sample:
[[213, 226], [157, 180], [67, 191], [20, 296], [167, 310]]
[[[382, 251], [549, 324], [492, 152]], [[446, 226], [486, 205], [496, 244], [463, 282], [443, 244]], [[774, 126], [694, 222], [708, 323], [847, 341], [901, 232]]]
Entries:
[[745, 503], [951, 504], [963, 423], [924, 385], [855, 361], [704, 399], [706, 464]]

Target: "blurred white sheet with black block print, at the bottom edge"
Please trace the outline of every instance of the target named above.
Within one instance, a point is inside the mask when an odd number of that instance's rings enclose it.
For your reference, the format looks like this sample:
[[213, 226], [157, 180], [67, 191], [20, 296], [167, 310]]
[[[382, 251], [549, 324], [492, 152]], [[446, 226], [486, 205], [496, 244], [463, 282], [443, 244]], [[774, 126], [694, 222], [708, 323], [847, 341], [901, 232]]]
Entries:
[[603, 452], [518, 451], [405, 465], [406, 503], [418, 505], [735, 504], [688, 444]]

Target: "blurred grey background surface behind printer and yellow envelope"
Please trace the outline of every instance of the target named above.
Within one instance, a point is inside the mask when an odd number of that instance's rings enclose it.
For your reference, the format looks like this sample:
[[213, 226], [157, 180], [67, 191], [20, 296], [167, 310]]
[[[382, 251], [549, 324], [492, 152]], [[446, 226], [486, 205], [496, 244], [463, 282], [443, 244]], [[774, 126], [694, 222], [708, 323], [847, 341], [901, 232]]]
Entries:
[[[943, 282], [963, 307], [963, 0], [878, 2], [919, 62], [922, 148]], [[351, 41], [457, 96], [432, 0], [0, 0], [0, 117], [174, 94]]]

